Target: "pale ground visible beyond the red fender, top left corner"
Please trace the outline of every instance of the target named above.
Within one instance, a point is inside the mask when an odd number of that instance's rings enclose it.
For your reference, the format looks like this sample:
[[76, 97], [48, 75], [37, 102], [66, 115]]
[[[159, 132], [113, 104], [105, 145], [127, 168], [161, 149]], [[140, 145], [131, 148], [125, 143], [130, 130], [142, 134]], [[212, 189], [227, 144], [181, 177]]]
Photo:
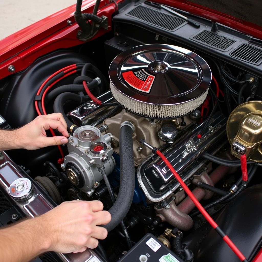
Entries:
[[0, 0], [0, 39], [75, 3], [76, 0]]

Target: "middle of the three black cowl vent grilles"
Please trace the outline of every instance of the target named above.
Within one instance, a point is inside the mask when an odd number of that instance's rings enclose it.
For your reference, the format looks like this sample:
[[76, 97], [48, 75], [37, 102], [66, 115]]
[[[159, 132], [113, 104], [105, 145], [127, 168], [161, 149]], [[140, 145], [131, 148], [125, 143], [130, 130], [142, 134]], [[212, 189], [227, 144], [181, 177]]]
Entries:
[[236, 42], [236, 40], [228, 38], [218, 33], [214, 33], [208, 30], [203, 30], [197, 35], [190, 37], [195, 41], [205, 43], [208, 46], [217, 48], [226, 52], [228, 48]]

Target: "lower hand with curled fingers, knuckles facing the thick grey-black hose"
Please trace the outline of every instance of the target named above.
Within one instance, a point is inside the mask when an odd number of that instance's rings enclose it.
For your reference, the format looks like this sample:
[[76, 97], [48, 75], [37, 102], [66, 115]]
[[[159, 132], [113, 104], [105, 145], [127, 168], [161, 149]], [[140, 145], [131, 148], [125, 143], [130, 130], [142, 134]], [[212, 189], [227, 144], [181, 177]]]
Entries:
[[50, 237], [49, 251], [59, 253], [84, 252], [86, 248], [96, 248], [97, 239], [105, 239], [106, 225], [111, 220], [108, 211], [102, 211], [100, 201], [73, 200], [39, 217], [42, 226]]

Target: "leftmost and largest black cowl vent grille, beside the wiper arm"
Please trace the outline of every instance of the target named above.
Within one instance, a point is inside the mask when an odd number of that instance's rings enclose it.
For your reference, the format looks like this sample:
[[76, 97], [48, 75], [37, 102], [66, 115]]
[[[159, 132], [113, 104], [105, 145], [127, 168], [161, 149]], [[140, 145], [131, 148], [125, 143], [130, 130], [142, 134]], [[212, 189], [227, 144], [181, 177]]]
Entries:
[[161, 13], [145, 6], [137, 6], [128, 12], [128, 15], [170, 31], [174, 30], [185, 22], [181, 18]]

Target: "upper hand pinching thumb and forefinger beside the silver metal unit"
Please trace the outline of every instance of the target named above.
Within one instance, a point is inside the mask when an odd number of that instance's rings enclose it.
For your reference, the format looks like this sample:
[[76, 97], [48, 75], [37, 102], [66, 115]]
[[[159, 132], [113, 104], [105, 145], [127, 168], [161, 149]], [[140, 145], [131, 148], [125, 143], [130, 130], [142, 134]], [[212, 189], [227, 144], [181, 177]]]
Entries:
[[[47, 137], [46, 130], [57, 129], [63, 136]], [[35, 150], [68, 142], [67, 124], [61, 113], [38, 116], [30, 123], [14, 130], [17, 148]]]

